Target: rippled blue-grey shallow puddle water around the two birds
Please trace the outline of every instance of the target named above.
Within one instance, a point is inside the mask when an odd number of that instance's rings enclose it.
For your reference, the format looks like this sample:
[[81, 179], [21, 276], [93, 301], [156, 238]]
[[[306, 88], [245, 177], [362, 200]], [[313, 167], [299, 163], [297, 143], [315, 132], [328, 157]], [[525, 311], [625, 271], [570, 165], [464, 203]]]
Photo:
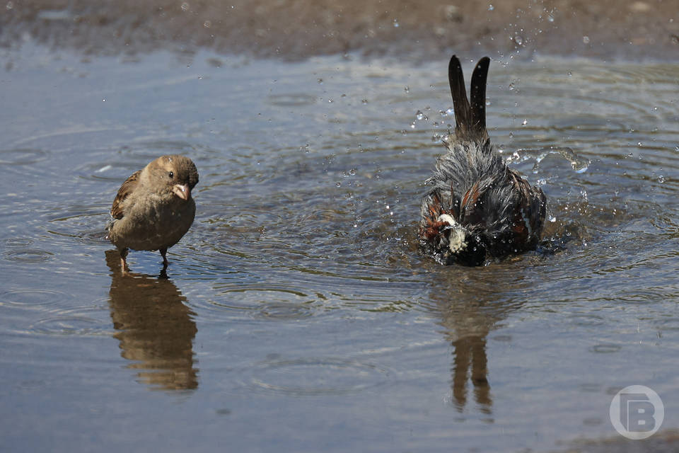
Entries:
[[[416, 233], [447, 60], [0, 59], [9, 449], [551, 451], [622, 439], [631, 384], [678, 427], [676, 64], [494, 60], [489, 133], [545, 240], [444, 268]], [[110, 203], [170, 153], [196, 222], [166, 275], [132, 252], [121, 277]]]

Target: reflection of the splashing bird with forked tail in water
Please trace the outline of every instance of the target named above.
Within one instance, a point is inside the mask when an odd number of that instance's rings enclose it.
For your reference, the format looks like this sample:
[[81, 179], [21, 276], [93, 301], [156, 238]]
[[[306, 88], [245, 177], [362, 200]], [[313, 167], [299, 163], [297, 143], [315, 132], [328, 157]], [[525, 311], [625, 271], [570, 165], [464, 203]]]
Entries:
[[499, 321], [520, 306], [508, 296], [511, 293], [499, 294], [496, 285], [483, 278], [473, 273], [466, 278], [441, 277], [431, 294], [441, 316], [443, 334], [454, 348], [451, 391], [453, 404], [460, 413], [468, 403], [469, 383], [479, 411], [492, 413], [487, 337]]

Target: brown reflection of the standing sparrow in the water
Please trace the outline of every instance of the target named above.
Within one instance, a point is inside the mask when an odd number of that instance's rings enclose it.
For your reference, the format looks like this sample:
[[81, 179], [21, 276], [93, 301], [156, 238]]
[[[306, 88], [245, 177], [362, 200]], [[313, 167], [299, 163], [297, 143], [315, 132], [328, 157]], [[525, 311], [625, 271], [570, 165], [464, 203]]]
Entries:
[[[120, 254], [106, 251], [111, 270], [109, 304], [121, 356], [139, 369], [151, 389], [188, 390], [198, 386], [193, 340], [198, 331], [186, 297], [166, 275], [120, 272]], [[132, 278], [130, 278], [132, 277]]]

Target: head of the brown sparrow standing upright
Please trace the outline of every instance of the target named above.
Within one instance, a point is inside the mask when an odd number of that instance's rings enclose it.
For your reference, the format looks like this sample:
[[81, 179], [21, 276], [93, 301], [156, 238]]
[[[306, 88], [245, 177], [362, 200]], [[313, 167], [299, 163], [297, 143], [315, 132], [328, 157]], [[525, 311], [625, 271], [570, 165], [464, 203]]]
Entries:
[[198, 183], [198, 171], [191, 159], [173, 154], [160, 156], [146, 166], [149, 182], [158, 192], [171, 193], [189, 200], [191, 190]]

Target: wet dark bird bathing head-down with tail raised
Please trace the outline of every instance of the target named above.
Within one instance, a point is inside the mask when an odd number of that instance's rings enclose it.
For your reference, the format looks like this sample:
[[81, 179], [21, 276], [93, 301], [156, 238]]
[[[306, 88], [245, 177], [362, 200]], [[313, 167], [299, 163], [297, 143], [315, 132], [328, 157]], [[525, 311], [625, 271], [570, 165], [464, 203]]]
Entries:
[[472, 73], [470, 100], [460, 60], [453, 55], [448, 80], [455, 137], [443, 143], [434, 187], [422, 199], [419, 240], [439, 263], [481, 265], [487, 258], [534, 250], [545, 222], [545, 194], [508, 168], [486, 130], [486, 79], [490, 59]]

